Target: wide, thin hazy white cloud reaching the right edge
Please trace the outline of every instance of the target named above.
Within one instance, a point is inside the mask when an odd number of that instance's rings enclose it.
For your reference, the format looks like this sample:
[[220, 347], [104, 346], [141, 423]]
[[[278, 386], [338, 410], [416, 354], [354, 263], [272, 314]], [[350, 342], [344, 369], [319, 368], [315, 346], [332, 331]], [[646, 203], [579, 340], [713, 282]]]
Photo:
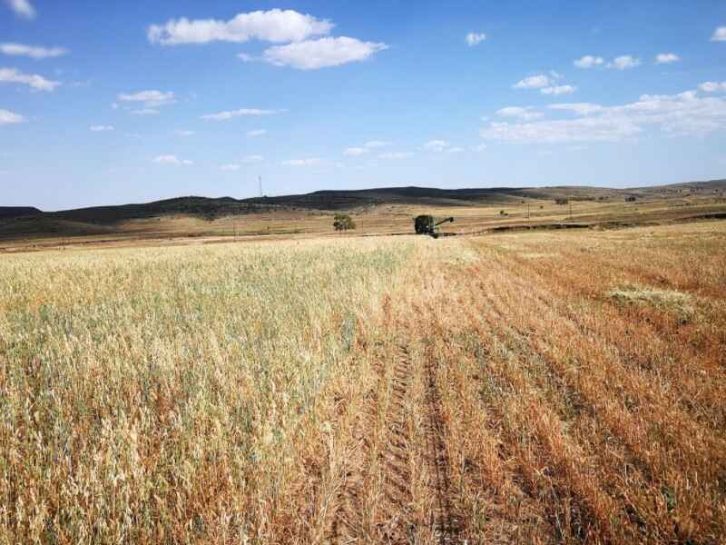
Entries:
[[576, 119], [534, 123], [492, 123], [481, 131], [486, 140], [514, 144], [616, 142], [648, 128], [671, 135], [726, 130], [726, 98], [699, 97], [695, 91], [673, 95], [643, 94], [619, 106], [552, 104], [554, 110], [581, 115]]

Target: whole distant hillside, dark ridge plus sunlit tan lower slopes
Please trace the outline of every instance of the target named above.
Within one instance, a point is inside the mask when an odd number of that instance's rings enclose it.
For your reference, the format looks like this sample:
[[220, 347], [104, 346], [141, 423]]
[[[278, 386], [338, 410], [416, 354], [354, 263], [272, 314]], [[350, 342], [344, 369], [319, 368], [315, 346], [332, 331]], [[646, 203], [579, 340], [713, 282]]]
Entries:
[[[704, 212], [721, 213], [724, 197], [726, 180], [627, 189], [589, 186], [438, 189], [409, 186], [317, 191], [240, 200], [232, 197], [186, 196], [152, 203], [94, 206], [46, 213], [32, 207], [0, 208], [0, 241], [101, 235], [174, 238], [212, 235], [224, 229], [236, 233], [240, 226], [246, 228], [246, 233], [309, 233], [310, 229], [304, 226], [306, 222], [338, 211], [376, 215], [380, 227], [376, 231], [383, 233], [390, 232], [394, 216], [408, 217], [411, 213], [444, 209], [450, 209], [448, 213], [453, 215], [472, 216], [482, 209], [488, 208], [499, 213], [500, 208], [506, 208], [505, 217], [514, 220], [516, 216], [512, 216], [510, 208], [531, 203], [533, 210], [539, 211], [543, 209], [543, 204], [546, 209], [546, 203], [551, 204], [559, 199], [598, 205], [612, 203], [620, 208], [627, 199], [636, 199], [641, 203], [660, 202], [671, 208], [692, 204], [694, 199], [701, 204], [709, 200], [717, 208]], [[591, 211], [601, 216], [603, 212]], [[270, 218], [277, 223], [270, 225]], [[324, 220], [324, 223], [327, 224], [328, 220]], [[312, 230], [318, 232], [321, 224], [316, 223]], [[270, 231], [272, 227], [274, 230]]]

